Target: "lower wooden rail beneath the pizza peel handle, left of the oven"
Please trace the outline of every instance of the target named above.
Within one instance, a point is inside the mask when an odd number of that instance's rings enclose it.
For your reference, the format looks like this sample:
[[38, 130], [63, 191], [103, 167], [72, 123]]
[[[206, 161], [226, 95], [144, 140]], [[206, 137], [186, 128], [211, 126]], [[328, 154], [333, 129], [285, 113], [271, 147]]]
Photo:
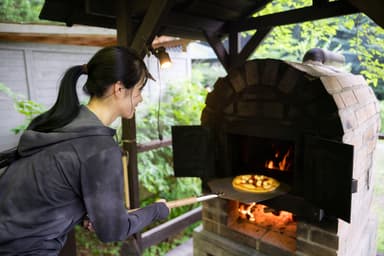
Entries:
[[148, 248], [179, 234], [191, 224], [201, 220], [201, 206], [142, 234], [142, 246]]

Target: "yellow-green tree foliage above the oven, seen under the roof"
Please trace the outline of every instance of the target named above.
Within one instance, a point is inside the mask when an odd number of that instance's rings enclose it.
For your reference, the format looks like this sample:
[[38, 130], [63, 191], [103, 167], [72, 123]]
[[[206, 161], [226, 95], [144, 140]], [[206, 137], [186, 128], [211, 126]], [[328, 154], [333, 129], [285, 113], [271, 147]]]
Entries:
[[[311, 5], [311, 0], [273, 1], [257, 16]], [[247, 32], [253, 34], [254, 31]], [[347, 69], [362, 74], [379, 98], [384, 97], [384, 30], [364, 14], [340, 16], [274, 28], [252, 58], [301, 62], [311, 48], [324, 48], [346, 57]]]

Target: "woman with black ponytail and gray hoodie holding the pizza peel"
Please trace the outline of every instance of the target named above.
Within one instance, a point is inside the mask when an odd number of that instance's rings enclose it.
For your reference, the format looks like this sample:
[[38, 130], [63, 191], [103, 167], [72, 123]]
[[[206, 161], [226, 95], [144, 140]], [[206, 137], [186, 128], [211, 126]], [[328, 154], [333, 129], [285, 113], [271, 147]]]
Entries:
[[[76, 83], [88, 75], [81, 106]], [[125, 47], [98, 51], [68, 69], [54, 106], [23, 133], [0, 177], [0, 255], [57, 255], [67, 233], [87, 215], [103, 242], [124, 240], [169, 214], [165, 203], [127, 213], [121, 150], [108, 127], [132, 118], [150, 74]]]

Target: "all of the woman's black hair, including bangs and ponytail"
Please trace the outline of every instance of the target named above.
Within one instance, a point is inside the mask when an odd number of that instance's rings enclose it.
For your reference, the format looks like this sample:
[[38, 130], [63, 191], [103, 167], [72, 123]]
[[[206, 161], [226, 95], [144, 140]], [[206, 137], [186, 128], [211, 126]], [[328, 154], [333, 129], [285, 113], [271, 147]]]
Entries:
[[71, 122], [79, 113], [77, 80], [88, 74], [83, 90], [91, 97], [102, 97], [120, 81], [129, 89], [143, 79], [152, 78], [140, 56], [127, 47], [110, 46], [99, 50], [85, 65], [69, 68], [60, 82], [57, 100], [47, 112], [35, 117], [28, 130], [50, 132]]

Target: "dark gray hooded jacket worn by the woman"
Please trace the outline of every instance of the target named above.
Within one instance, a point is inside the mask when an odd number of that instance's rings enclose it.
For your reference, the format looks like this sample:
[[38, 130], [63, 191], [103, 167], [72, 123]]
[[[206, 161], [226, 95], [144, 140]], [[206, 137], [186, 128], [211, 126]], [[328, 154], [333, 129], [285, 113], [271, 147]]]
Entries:
[[0, 255], [57, 255], [86, 214], [103, 242], [168, 216], [164, 203], [127, 213], [114, 134], [84, 106], [54, 132], [23, 133], [21, 158], [0, 177]]

